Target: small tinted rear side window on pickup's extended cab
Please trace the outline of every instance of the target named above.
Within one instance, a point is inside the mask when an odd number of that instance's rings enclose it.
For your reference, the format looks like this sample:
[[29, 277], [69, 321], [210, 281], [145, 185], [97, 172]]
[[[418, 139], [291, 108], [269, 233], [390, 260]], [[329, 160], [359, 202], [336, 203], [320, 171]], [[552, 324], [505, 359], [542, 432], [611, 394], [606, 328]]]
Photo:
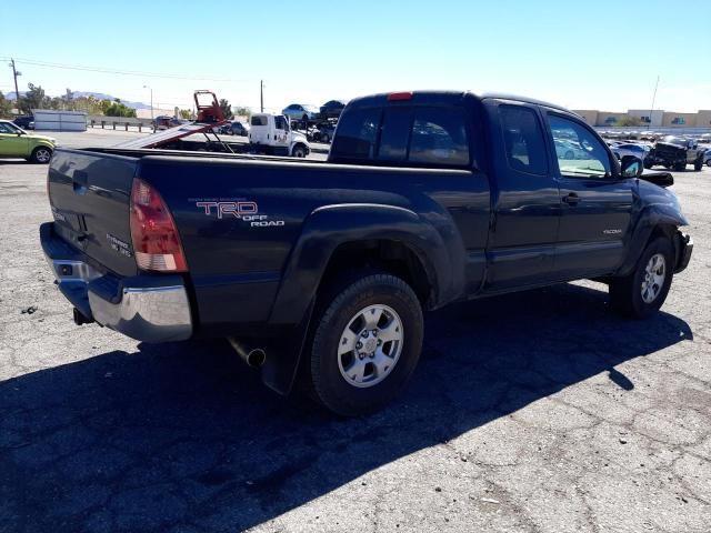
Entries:
[[499, 113], [509, 167], [518, 172], [548, 174], [548, 151], [535, 111], [521, 105], [500, 105]]

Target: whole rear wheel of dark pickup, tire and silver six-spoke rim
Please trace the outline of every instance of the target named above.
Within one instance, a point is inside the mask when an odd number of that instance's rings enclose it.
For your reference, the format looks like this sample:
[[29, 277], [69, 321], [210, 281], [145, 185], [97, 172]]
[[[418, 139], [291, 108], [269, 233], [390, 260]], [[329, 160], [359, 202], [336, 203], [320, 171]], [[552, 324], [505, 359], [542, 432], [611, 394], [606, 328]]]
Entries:
[[314, 315], [310, 389], [332, 412], [357, 416], [390, 402], [422, 350], [420, 302], [400, 278], [363, 275], [338, 283]]

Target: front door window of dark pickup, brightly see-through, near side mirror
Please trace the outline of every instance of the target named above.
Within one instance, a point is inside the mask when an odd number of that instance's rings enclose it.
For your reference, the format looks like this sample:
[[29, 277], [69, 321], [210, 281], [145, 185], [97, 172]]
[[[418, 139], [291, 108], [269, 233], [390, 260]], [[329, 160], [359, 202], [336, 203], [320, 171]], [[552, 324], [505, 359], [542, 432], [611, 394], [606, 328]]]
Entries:
[[610, 157], [604, 145], [583, 125], [549, 114], [560, 175], [604, 179], [611, 175]]

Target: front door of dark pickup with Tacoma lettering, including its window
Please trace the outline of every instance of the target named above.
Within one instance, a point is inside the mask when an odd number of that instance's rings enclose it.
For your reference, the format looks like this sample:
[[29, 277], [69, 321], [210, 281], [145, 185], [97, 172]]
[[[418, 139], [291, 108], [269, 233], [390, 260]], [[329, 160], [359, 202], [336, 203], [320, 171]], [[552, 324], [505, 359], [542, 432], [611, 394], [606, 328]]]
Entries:
[[582, 121], [551, 111], [547, 130], [551, 141], [574, 147], [573, 158], [565, 152], [555, 158], [562, 201], [555, 275], [570, 280], [611, 273], [624, 260], [633, 181], [613, 171], [613, 155]]

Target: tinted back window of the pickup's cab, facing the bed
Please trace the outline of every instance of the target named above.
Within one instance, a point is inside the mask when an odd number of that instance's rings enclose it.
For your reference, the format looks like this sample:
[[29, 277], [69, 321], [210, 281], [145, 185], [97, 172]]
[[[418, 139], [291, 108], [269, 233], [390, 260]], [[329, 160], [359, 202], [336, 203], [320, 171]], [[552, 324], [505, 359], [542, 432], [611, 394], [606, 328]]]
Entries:
[[468, 167], [467, 117], [458, 105], [353, 109], [338, 124], [331, 158], [401, 167]]

